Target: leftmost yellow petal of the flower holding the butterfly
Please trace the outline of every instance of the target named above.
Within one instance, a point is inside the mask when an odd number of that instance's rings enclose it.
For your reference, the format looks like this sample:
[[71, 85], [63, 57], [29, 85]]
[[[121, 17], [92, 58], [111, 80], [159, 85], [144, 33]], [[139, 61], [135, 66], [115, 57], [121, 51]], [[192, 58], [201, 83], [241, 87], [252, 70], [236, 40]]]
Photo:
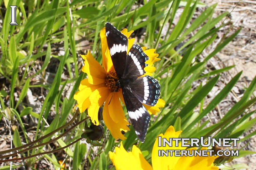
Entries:
[[92, 85], [88, 82], [88, 79], [84, 79], [80, 82], [79, 91], [75, 93], [74, 99], [77, 101], [77, 107], [80, 113], [84, 112], [91, 104], [89, 96], [91, 93], [100, 88], [101, 85]]

